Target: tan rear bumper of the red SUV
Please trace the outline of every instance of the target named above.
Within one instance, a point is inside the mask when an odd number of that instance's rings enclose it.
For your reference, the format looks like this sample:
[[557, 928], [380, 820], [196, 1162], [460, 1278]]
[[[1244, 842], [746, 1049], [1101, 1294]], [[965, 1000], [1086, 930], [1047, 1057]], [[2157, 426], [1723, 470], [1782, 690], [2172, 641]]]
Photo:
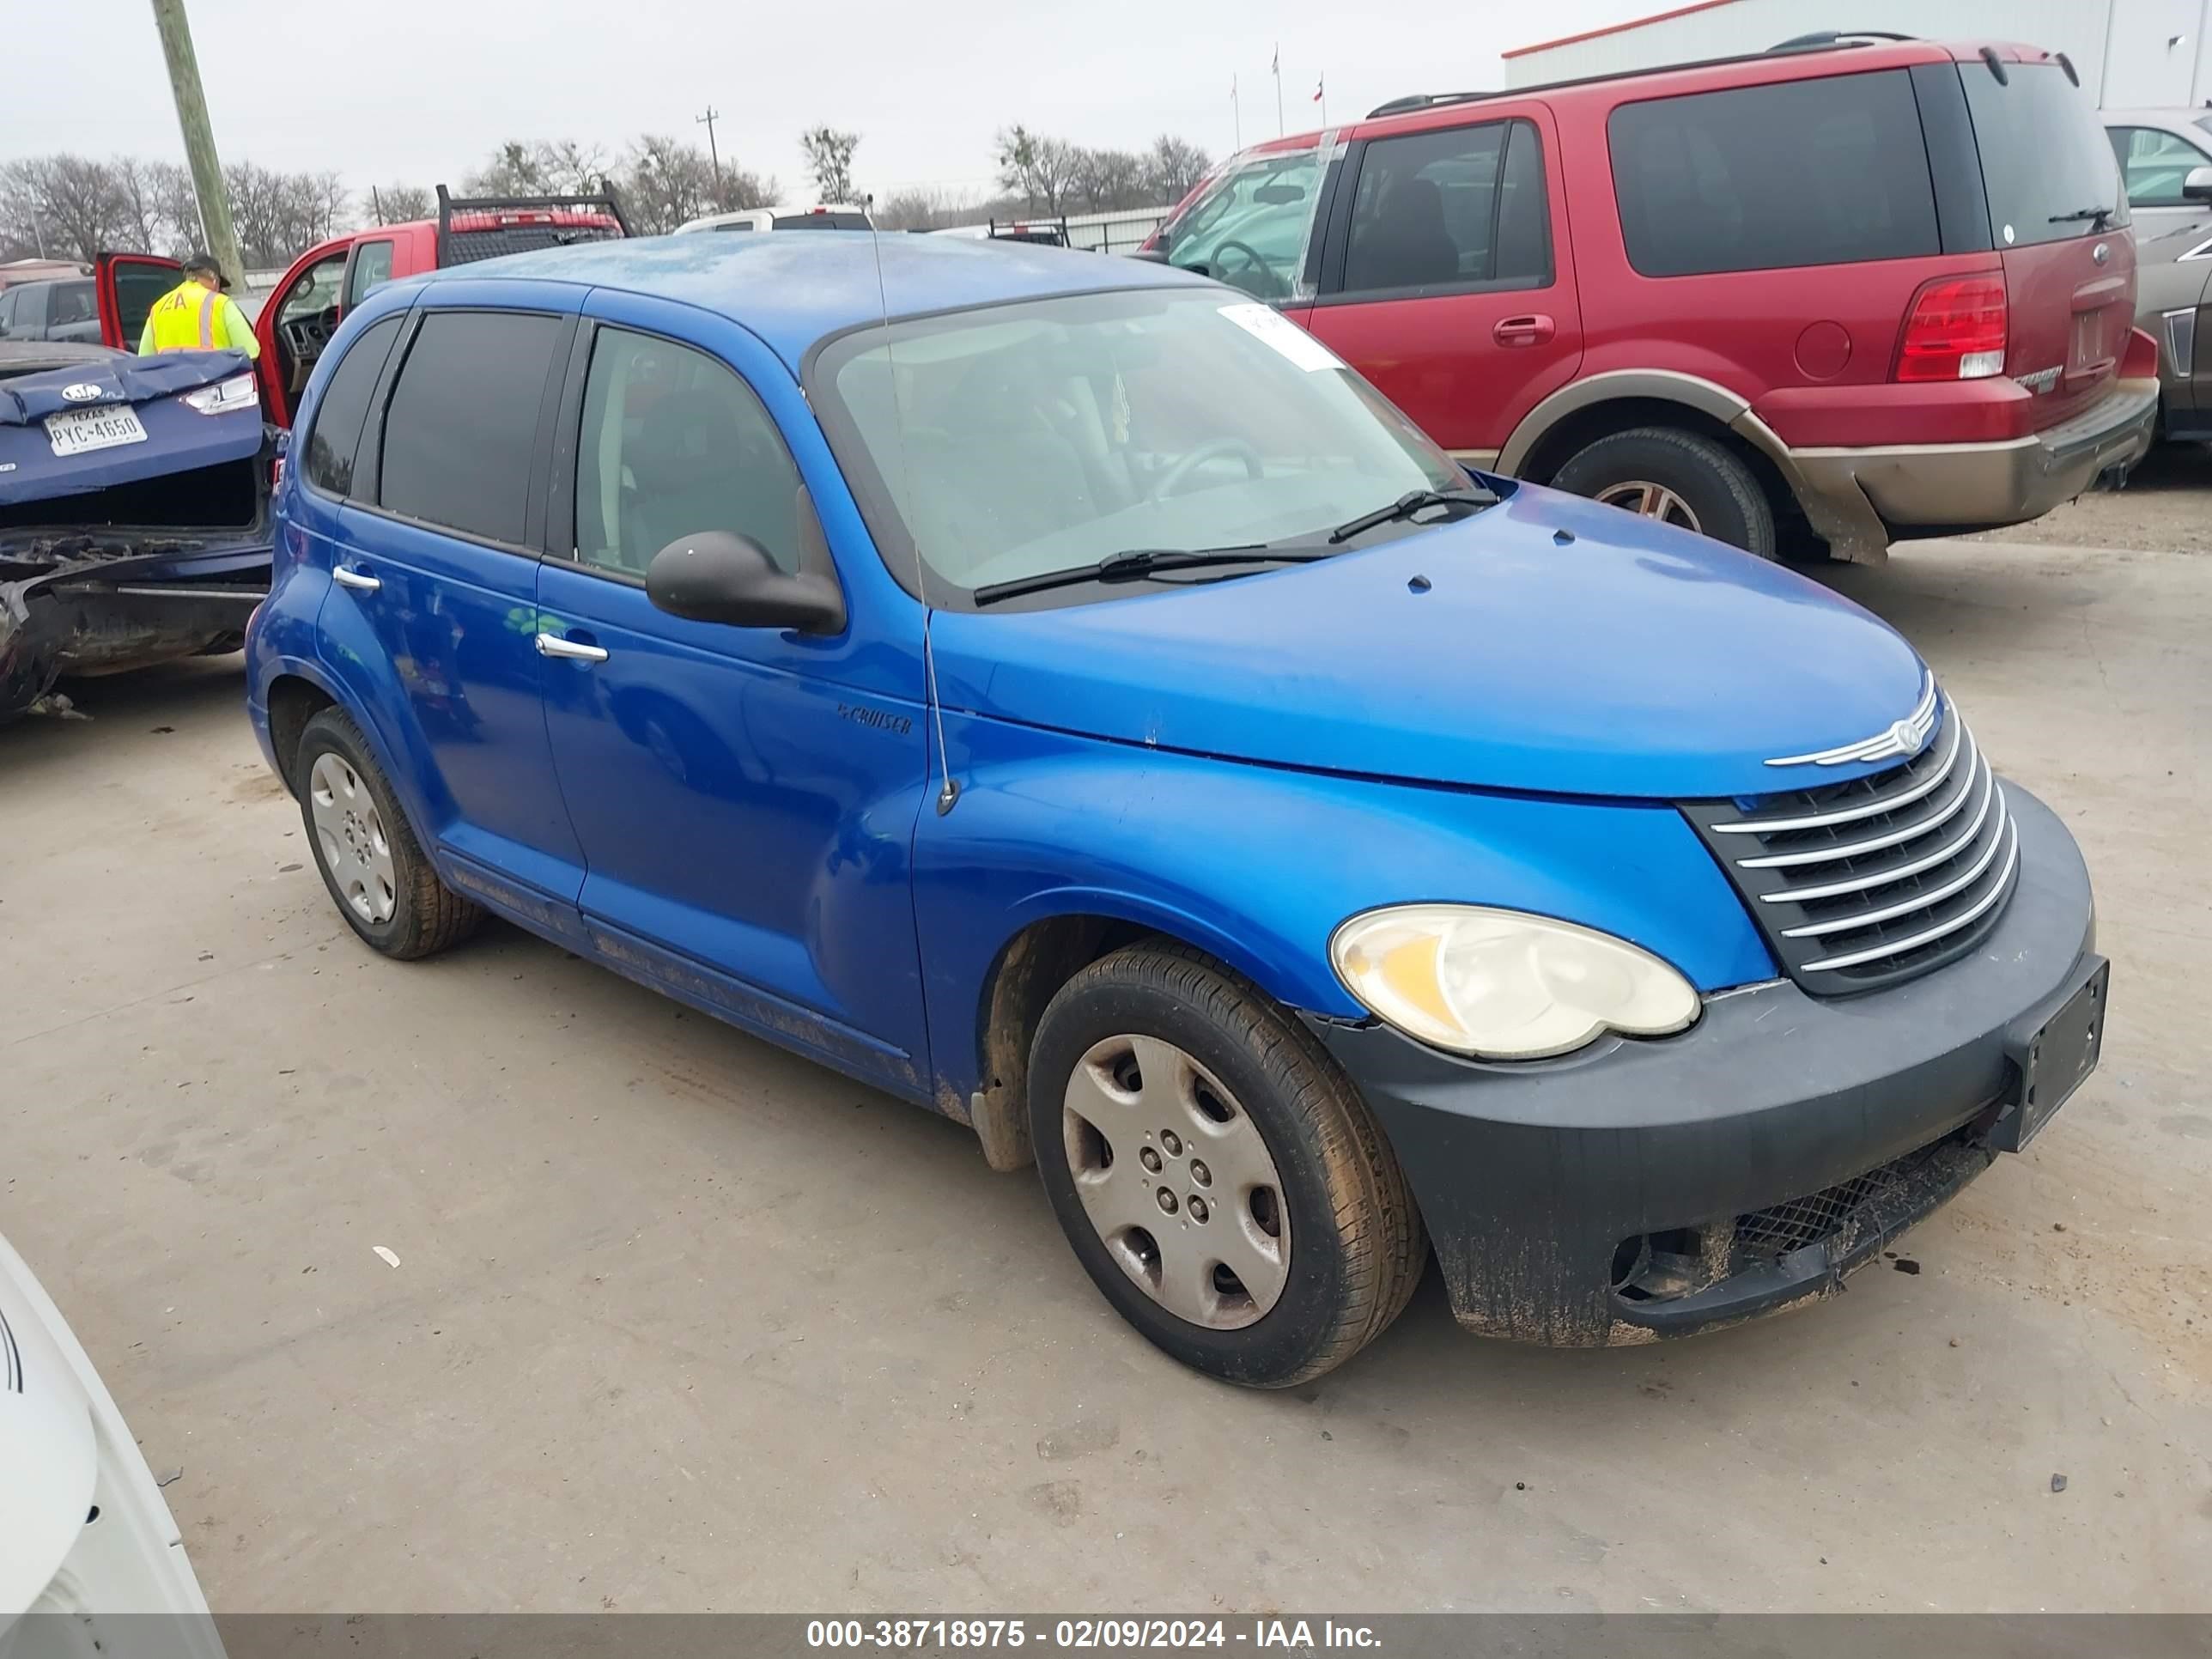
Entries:
[[2042, 518], [2106, 467], [2139, 460], [2159, 383], [2121, 380], [2064, 425], [2028, 438], [1889, 449], [1792, 449], [1796, 493], [1838, 557], [1871, 560], [1893, 540]]

